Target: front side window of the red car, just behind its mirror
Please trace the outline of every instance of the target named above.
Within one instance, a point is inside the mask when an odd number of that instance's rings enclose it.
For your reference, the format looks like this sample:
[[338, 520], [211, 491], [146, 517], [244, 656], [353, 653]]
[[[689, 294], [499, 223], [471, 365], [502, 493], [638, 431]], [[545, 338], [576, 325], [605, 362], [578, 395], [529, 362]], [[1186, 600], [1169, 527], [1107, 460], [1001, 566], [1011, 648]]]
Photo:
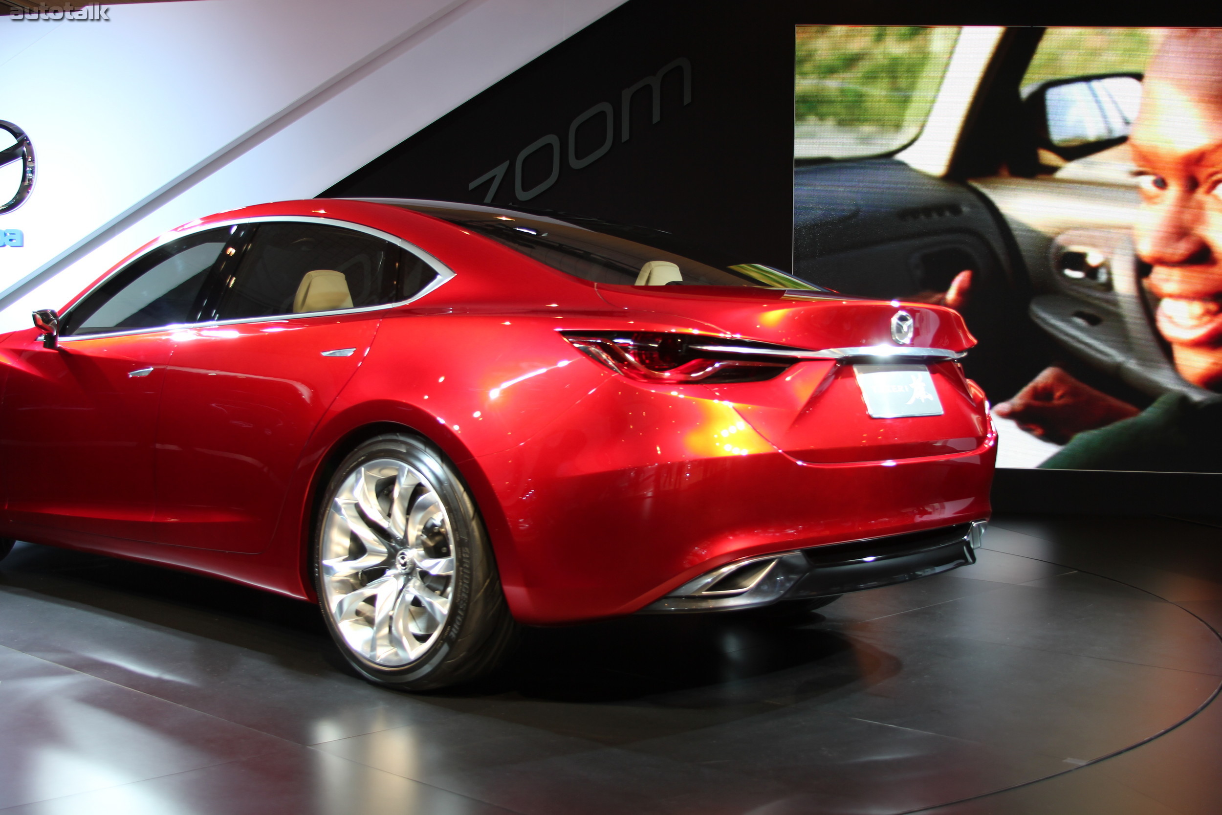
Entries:
[[191, 323], [233, 227], [196, 232], [154, 249], [88, 294], [66, 315], [65, 336]]

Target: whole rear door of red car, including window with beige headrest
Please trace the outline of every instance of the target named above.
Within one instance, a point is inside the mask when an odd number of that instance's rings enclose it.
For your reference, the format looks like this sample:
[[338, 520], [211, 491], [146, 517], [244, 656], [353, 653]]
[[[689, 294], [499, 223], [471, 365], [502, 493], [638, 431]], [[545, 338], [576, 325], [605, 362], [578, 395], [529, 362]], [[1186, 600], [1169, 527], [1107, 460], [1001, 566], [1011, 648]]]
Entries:
[[302, 448], [373, 342], [378, 307], [431, 279], [384, 233], [325, 220], [252, 224], [204, 307], [211, 321], [174, 336], [159, 541], [262, 552]]

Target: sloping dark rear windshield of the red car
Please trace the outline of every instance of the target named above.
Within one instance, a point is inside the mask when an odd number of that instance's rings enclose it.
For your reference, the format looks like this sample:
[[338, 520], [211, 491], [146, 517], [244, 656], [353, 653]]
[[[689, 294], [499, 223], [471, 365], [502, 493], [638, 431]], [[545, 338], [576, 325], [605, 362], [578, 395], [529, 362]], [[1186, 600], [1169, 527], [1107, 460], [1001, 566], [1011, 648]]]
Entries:
[[659, 230], [441, 202], [381, 199], [379, 203], [441, 217], [552, 269], [596, 283], [826, 291], [778, 269], [734, 263], [736, 259], [716, 257], [715, 252], [693, 250]]

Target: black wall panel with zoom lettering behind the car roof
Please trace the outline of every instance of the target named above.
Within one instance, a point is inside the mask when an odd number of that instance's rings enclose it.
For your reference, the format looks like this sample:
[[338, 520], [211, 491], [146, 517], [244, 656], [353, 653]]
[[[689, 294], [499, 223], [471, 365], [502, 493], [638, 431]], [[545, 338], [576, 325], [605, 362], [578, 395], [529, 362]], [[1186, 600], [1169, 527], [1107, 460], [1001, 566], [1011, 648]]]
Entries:
[[788, 268], [793, 24], [777, 9], [628, 2], [324, 194], [484, 202], [501, 167], [491, 203]]

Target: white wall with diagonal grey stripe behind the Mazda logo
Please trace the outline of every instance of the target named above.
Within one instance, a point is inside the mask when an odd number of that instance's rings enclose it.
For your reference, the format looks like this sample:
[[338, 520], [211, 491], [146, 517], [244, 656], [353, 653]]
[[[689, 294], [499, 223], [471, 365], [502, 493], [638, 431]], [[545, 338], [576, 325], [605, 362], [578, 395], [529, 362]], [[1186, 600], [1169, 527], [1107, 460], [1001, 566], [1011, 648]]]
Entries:
[[0, 70], [54, 89], [0, 100], [38, 156], [33, 194], [0, 215], [26, 233], [0, 249], [0, 331], [178, 224], [316, 194], [621, 1], [202, 0], [114, 6], [109, 23], [0, 18]]

